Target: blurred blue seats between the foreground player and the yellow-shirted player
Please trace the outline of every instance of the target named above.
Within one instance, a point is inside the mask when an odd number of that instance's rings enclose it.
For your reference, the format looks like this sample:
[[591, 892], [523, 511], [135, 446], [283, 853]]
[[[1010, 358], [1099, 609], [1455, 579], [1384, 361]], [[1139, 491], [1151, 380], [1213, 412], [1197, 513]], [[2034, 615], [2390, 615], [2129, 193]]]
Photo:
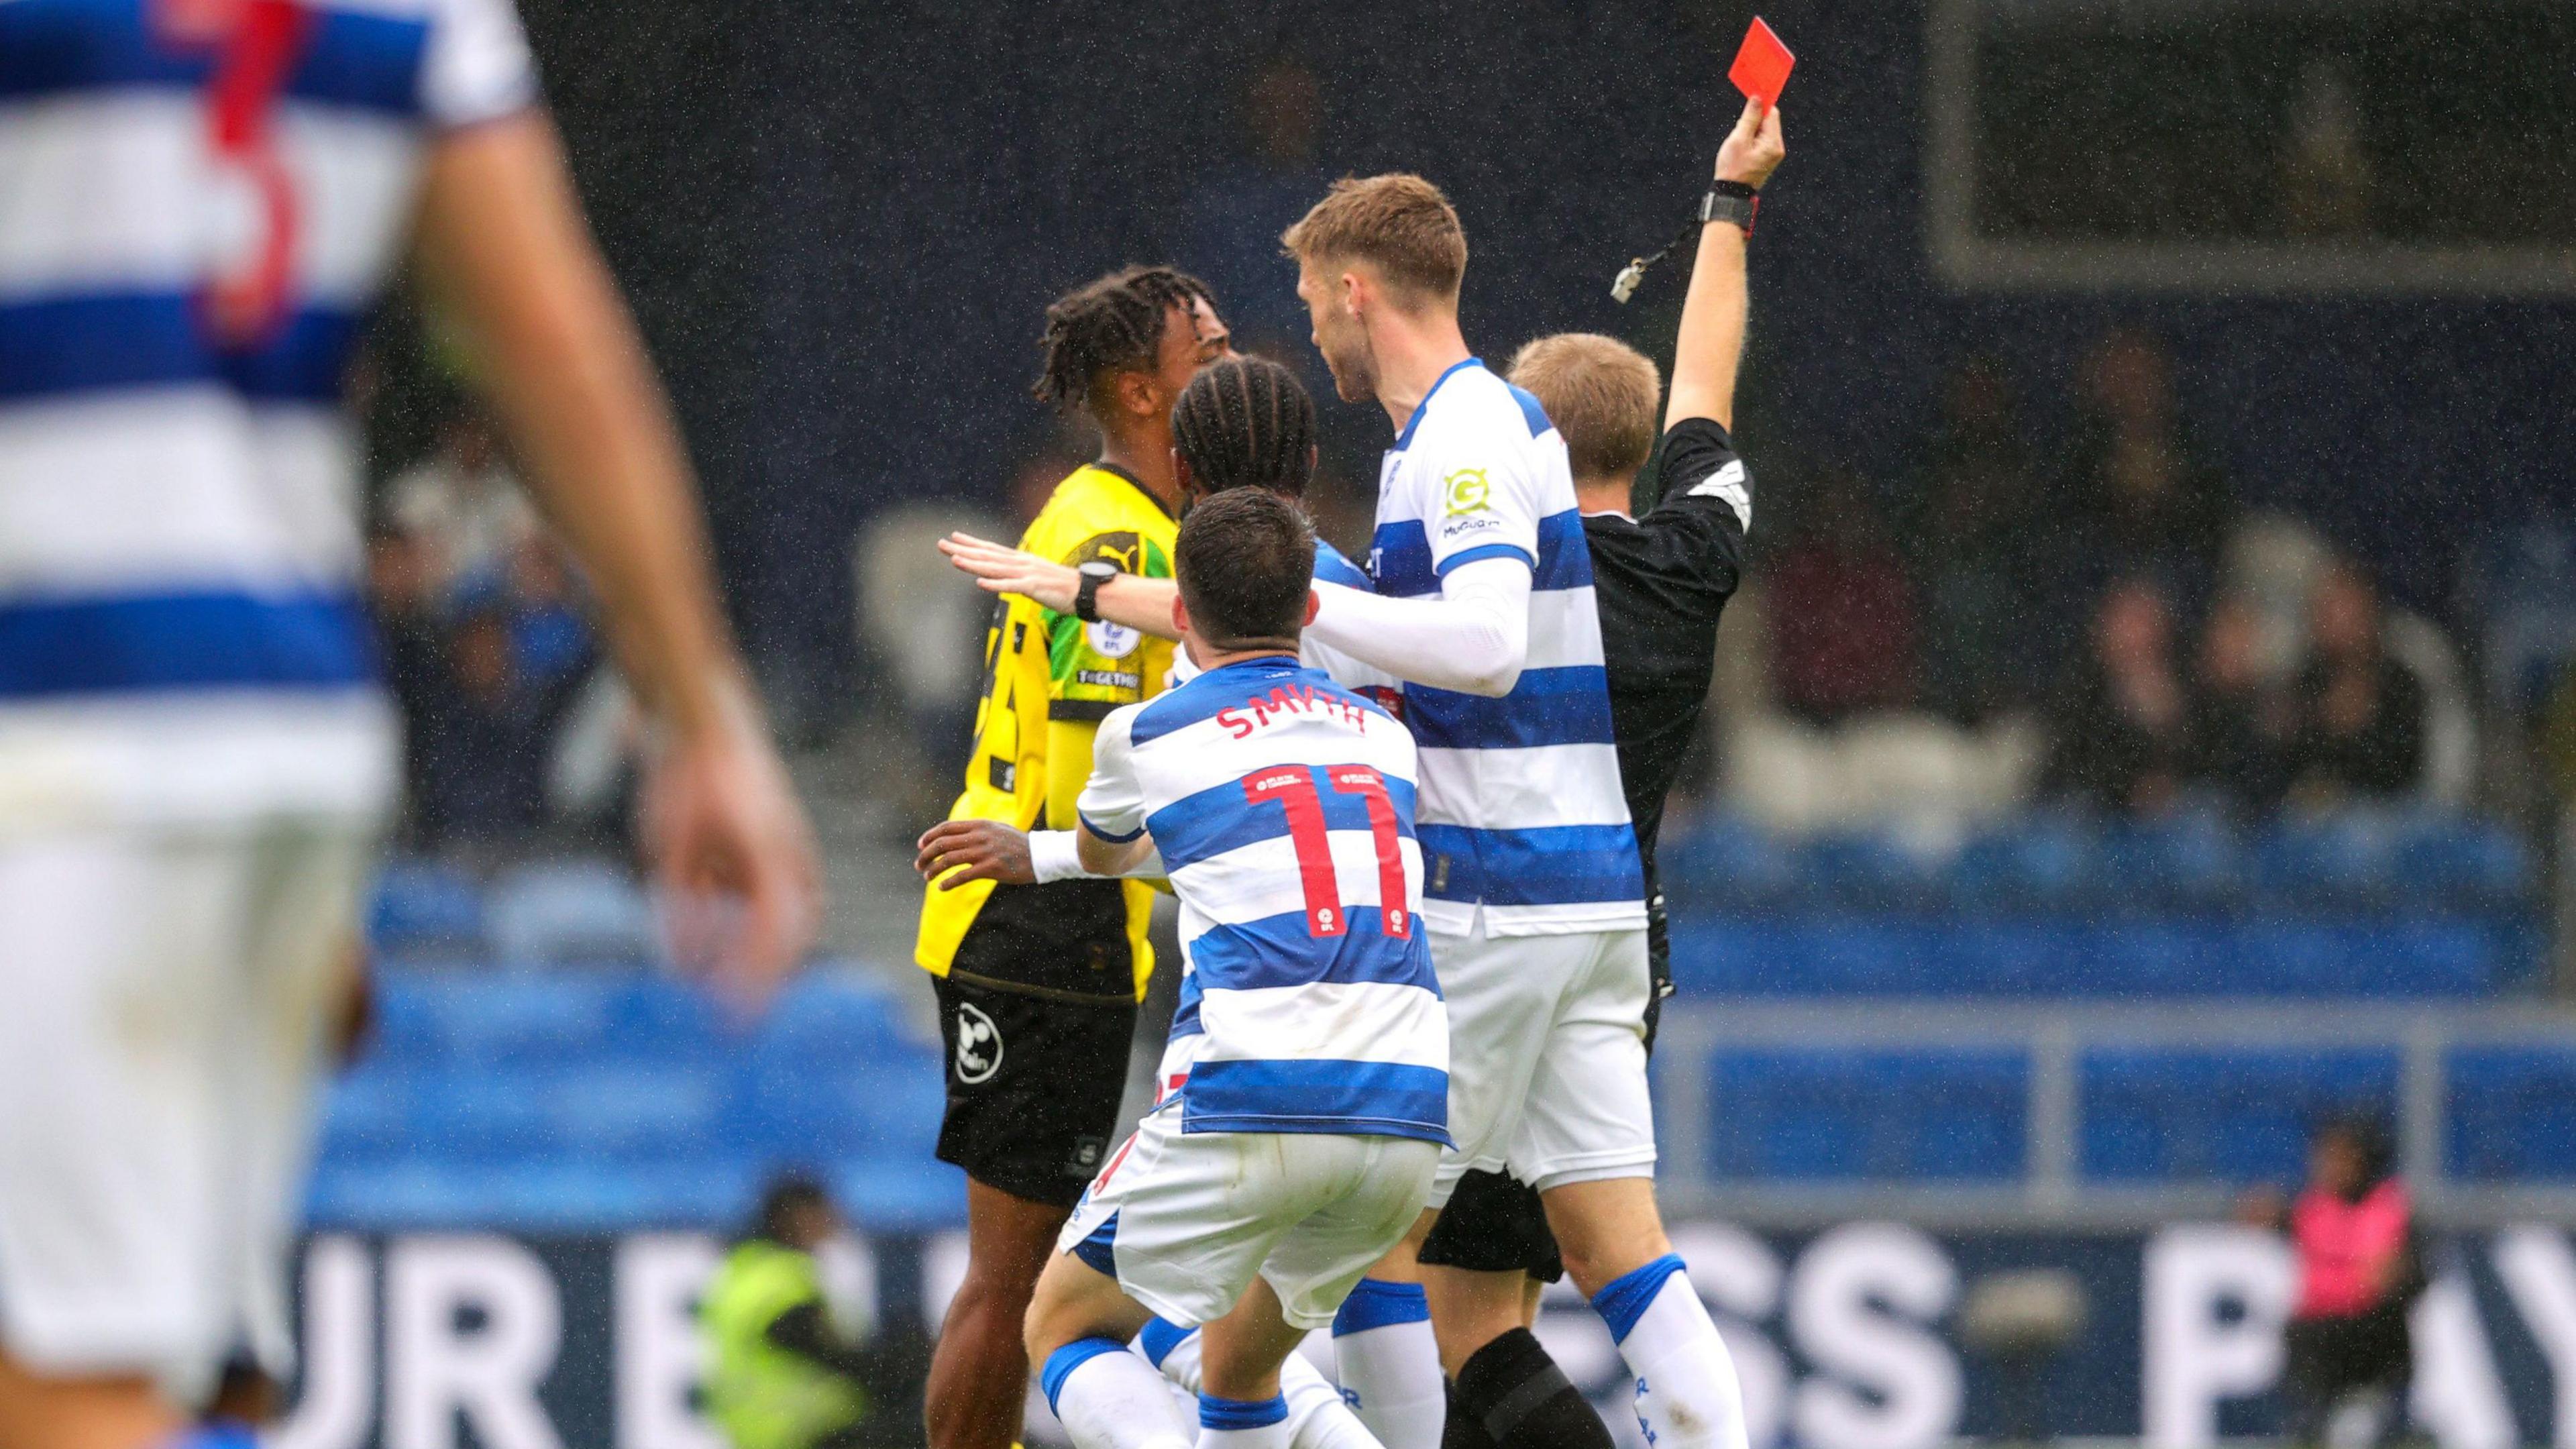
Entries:
[[739, 1220], [786, 1165], [876, 1230], [945, 1225], [940, 1052], [886, 987], [809, 972], [757, 1029], [639, 972], [386, 969], [330, 1093], [322, 1227], [621, 1230]]

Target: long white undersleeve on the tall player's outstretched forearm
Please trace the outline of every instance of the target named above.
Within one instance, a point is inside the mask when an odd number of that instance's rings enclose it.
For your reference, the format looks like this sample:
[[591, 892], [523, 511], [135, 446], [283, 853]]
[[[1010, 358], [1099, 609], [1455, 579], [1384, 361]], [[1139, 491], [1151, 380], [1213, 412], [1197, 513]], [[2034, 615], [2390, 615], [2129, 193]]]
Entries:
[[1440, 598], [1381, 598], [1314, 585], [1316, 642], [1409, 683], [1499, 699], [1530, 657], [1530, 565], [1510, 554], [1463, 559]]

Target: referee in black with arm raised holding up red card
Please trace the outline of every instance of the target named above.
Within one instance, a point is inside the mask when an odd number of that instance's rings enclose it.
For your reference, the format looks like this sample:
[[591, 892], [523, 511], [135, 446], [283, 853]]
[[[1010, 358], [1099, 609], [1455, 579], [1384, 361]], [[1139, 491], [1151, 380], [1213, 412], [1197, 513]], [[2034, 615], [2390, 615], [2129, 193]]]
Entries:
[[[1631, 482], [1656, 454], [1654, 361], [1595, 333], [1561, 333], [1520, 348], [1510, 379], [1538, 394], [1566, 438], [1574, 498], [1592, 547], [1592, 588], [1610, 673], [1610, 730], [1646, 864], [1646, 951], [1654, 1003], [1672, 995], [1672, 936], [1654, 841], [1664, 797], [1700, 732], [1716, 668], [1718, 614], [1744, 578], [1754, 521], [1752, 480], [1728, 425], [1744, 358], [1744, 248], [1754, 193], [1785, 155], [1777, 111], [1749, 101], [1718, 147], [1716, 186], [1700, 204], [1700, 250], [1682, 302], [1664, 436], [1631, 516]], [[1468, 1359], [1450, 1387], [1443, 1449], [1610, 1449], [1610, 1434], [1530, 1333], [1538, 1284], [1564, 1276], [1538, 1194], [1502, 1173], [1468, 1173], [1422, 1245], [1425, 1263], [1484, 1274], [1473, 1312], [1499, 1336]], [[1463, 1307], [1463, 1305], [1461, 1305]]]

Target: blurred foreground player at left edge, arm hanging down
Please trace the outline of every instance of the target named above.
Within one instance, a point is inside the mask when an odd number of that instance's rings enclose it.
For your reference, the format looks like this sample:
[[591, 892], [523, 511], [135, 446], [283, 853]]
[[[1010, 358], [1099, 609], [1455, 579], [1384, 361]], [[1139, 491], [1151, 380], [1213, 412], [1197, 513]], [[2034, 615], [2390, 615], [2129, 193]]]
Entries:
[[0, 1446], [224, 1441], [394, 789], [337, 400], [407, 248], [659, 717], [665, 884], [739, 897], [683, 954], [760, 995], [814, 859], [505, 0], [0, 3]]

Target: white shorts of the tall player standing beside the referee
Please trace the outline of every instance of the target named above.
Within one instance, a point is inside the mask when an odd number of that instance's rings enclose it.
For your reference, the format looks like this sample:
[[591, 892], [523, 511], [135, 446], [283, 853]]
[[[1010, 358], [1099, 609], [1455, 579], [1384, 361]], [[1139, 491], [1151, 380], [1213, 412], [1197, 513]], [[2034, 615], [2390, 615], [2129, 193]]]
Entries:
[[1468, 1171], [1546, 1191], [1654, 1176], [1643, 931], [1432, 933], [1450, 1008], [1450, 1140], [1432, 1207]]

